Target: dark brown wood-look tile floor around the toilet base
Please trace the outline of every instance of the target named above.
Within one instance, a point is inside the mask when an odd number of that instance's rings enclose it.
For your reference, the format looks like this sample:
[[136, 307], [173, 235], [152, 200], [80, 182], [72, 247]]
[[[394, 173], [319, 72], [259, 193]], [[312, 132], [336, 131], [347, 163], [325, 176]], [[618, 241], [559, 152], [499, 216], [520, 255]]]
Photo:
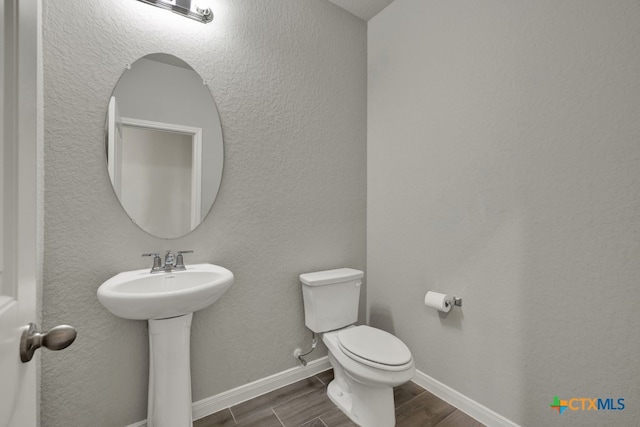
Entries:
[[[328, 370], [194, 421], [194, 427], [352, 427], [327, 397]], [[397, 427], [482, 427], [483, 424], [408, 382], [393, 390]]]

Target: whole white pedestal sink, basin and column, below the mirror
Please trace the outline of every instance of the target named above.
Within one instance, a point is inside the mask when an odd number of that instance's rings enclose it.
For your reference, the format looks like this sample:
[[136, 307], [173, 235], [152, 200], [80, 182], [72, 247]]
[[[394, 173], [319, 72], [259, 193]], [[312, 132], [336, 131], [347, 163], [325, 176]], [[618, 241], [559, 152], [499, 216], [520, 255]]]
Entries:
[[98, 299], [111, 313], [149, 321], [148, 427], [192, 426], [191, 319], [232, 284], [226, 268], [195, 264], [166, 273], [127, 271], [98, 288]]

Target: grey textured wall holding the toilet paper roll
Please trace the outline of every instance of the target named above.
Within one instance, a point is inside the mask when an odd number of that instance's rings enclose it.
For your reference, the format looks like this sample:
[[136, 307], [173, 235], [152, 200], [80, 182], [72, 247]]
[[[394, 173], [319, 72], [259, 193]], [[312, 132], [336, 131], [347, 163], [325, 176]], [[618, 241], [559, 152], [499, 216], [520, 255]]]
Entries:
[[523, 426], [640, 417], [638, 22], [635, 0], [396, 0], [368, 24], [371, 322]]

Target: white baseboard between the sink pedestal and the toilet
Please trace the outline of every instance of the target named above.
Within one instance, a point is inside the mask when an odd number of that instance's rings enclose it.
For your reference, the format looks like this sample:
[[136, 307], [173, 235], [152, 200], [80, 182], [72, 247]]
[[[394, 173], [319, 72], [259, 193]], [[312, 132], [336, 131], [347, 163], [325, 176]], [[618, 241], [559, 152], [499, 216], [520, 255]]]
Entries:
[[[193, 403], [193, 419], [199, 420], [208, 415], [215, 414], [225, 408], [237, 405], [270, 391], [277, 390], [296, 381], [319, 374], [330, 369], [327, 356], [310, 361], [307, 366], [299, 366], [287, 369], [269, 377], [261, 378], [249, 384], [236, 387], [215, 396], [207, 397]], [[127, 427], [146, 427], [147, 420], [139, 421]]]

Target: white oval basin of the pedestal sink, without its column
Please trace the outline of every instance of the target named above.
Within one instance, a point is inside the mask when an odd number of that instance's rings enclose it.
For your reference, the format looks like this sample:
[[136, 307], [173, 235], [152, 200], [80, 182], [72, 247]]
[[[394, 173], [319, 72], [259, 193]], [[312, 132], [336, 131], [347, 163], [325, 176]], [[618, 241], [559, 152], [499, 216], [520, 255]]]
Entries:
[[98, 299], [124, 319], [166, 319], [213, 304], [233, 284], [233, 273], [213, 264], [188, 265], [184, 271], [117, 274], [98, 288]]

